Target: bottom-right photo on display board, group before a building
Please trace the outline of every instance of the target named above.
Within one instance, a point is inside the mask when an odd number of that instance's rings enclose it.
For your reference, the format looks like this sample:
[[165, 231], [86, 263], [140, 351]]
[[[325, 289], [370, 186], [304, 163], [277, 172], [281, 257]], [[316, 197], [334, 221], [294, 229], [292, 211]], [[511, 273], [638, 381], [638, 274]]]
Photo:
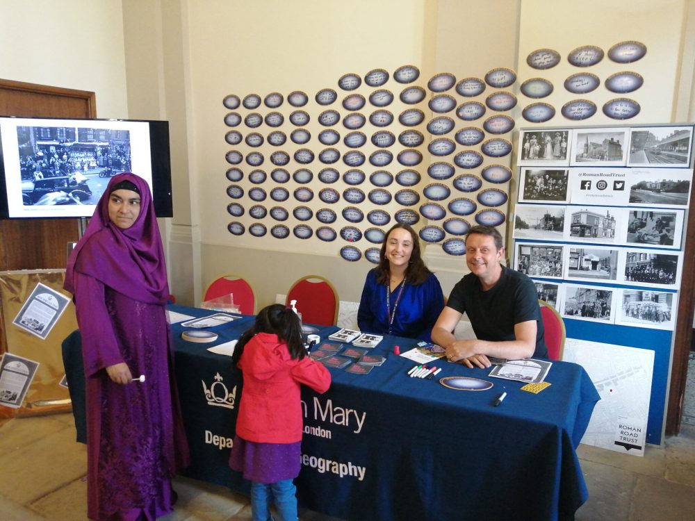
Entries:
[[676, 292], [623, 288], [616, 324], [648, 329], [676, 327]]

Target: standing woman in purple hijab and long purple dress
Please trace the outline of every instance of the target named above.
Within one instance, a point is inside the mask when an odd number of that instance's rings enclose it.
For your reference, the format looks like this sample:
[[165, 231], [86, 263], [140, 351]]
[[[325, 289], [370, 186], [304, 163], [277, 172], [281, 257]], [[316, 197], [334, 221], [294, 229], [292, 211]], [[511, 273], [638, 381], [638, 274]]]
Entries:
[[88, 517], [154, 520], [172, 511], [171, 478], [188, 462], [188, 446], [164, 251], [143, 179], [111, 178], [67, 263], [65, 289], [74, 295], [87, 379]]

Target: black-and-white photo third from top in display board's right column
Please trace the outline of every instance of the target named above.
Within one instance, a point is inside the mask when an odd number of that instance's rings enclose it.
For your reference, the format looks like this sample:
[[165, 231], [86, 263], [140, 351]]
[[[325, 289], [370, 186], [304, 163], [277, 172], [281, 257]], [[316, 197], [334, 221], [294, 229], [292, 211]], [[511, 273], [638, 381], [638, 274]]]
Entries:
[[683, 210], [625, 210], [624, 244], [680, 249]]

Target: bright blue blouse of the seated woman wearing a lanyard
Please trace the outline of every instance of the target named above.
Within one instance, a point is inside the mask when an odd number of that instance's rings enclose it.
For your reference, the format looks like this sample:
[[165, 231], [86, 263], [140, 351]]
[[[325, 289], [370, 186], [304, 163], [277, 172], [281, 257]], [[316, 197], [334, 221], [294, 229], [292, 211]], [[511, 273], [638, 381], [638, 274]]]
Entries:
[[[427, 280], [418, 286], [406, 281], [402, 286], [402, 293], [401, 286], [399, 284], [389, 295], [391, 313], [398, 299], [391, 334], [430, 342], [432, 327], [444, 308], [444, 294], [439, 281], [434, 274], [430, 274]], [[391, 317], [386, 311], [386, 291], [386, 285], [377, 284], [377, 270], [370, 270], [364, 282], [357, 311], [360, 331], [379, 335], [389, 333]]]

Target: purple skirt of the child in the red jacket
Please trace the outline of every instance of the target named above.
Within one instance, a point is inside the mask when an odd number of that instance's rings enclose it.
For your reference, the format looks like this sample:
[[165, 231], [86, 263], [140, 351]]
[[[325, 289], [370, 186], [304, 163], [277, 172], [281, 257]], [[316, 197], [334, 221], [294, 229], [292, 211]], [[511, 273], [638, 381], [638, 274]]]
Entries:
[[256, 483], [294, 479], [302, 467], [302, 442], [255, 443], [234, 436], [229, 467]]

